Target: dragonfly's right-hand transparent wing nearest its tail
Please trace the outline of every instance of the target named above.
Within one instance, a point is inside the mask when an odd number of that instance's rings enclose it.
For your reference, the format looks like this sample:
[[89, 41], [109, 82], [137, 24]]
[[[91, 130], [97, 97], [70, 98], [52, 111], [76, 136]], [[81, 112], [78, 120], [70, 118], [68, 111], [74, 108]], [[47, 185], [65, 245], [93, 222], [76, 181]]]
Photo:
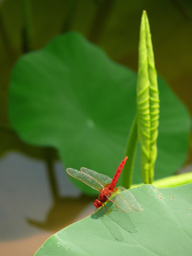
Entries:
[[120, 186], [120, 187], [118, 187], [118, 191], [122, 191], [122, 193], [120, 193], [120, 196], [122, 198], [124, 198], [124, 200], [127, 201], [127, 203], [129, 203], [129, 206], [132, 209], [138, 210], [138, 211], [143, 210], [140, 203], [137, 201], [137, 199], [134, 197], [134, 195], [128, 189], [125, 189], [124, 187]]

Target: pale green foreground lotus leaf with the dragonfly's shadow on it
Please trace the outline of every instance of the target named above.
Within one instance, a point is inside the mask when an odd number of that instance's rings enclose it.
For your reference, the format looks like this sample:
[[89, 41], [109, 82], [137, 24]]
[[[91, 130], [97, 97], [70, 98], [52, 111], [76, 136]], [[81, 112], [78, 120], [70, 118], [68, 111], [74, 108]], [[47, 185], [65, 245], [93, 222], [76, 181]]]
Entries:
[[36, 256], [191, 255], [192, 183], [175, 188], [143, 185], [130, 191], [142, 212], [93, 214], [52, 235]]

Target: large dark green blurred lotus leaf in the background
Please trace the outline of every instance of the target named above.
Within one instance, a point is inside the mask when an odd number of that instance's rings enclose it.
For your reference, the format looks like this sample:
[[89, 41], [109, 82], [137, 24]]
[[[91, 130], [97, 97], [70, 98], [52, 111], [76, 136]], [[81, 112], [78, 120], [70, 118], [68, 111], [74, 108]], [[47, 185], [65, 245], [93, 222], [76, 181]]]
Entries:
[[[114, 63], [78, 33], [66, 33], [16, 63], [9, 98], [11, 124], [36, 146], [58, 149], [66, 167], [112, 177], [123, 159], [136, 114], [137, 75]], [[160, 120], [154, 178], [173, 174], [186, 157], [186, 108], [159, 78]], [[79, 181], [85, 193], [95, 193]], [[140, 151], [134, 183], [142, 182]]]

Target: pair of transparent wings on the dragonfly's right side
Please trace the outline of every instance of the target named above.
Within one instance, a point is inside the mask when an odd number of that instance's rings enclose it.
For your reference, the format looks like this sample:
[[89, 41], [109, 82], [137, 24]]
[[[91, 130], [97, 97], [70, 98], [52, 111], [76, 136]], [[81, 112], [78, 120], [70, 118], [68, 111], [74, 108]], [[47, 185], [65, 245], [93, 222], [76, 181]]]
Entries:
[[[117, 193], [117, 191], [122, 191]], [[131, 208], [134, 210], [142, 211], [142, 206], [136, 200], [134, 195], [124, 187], [118, 187], [116, 191], [112, 193], [108, 200], [112, 201], [120, 210], [124, 213], [129, 213]]]

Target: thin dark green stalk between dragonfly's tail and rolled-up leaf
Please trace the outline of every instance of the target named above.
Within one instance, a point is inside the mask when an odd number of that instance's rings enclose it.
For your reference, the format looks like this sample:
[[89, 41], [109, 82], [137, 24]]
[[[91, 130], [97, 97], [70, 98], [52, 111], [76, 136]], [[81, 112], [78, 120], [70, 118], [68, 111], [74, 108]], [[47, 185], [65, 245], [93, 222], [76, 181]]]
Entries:
[[124, 169], [122, 172], [122, 186], [124, 188], [129, 189], [132, 185], [132, 176], [133, 176], [133, 168], [134, 168], [134, 157], [137, 149], [137, 116], [134, 118], [134, 122], [132, 123], [132, 127], [129, 133], [129, 139], [127, 143], [127, 149], [125, 152], [125, 156], [128, 156], [128, 161], [124, 165]]

